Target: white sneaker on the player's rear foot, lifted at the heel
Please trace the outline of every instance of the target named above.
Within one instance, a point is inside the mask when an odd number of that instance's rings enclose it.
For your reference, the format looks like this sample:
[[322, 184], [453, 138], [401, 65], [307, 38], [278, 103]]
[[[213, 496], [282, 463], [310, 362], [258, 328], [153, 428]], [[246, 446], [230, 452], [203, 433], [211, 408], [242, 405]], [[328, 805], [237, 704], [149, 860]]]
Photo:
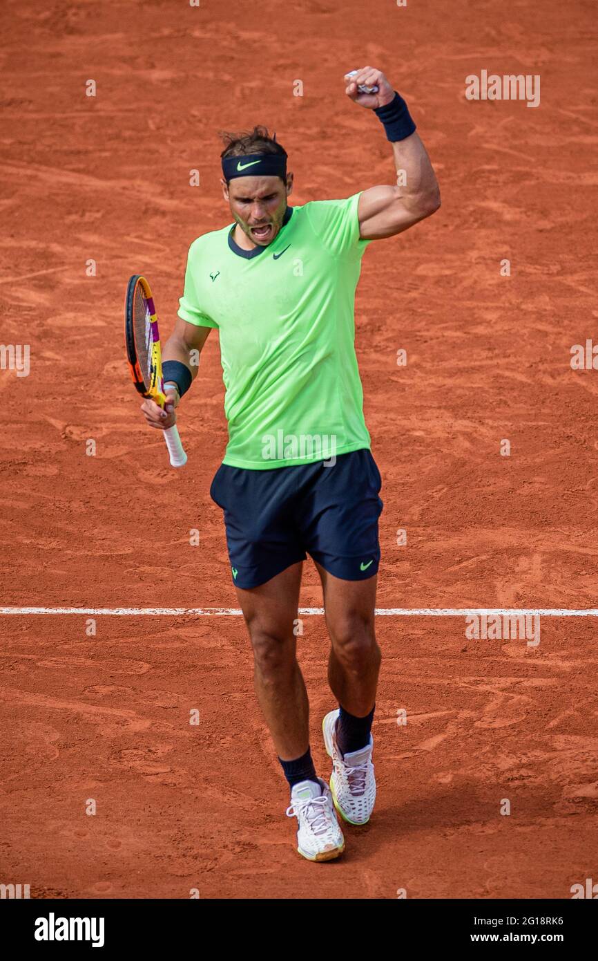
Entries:
[[376, 782], [371, 763], [373, 737], [370, 735], [370, 744], [366, 748], [343, 757], [336, 743], [336, 722], [340, 713], [338, 708], [329, 711], [322, 722], [323, 743], [328, 756], [332, 758], [332, 800], [349, 825], [365, 825], [370, 821], [376, 800]]

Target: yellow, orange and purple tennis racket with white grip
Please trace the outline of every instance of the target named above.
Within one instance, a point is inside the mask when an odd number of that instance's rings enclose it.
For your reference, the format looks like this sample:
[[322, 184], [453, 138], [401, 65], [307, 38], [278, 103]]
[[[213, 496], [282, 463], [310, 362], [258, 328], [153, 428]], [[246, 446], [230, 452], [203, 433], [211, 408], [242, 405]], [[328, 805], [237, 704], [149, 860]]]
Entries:
[[[166, 395], [154, 298], [150, 284], [139, 274], [134, 274], [127, 286], [125, 340], [132, 382], [143, 397], [149, 397], [159, 407], [164, 407]], [[172, 466], [182, 467], [186, 464], [187, 455], [180, 443], [176, 424], [164, 431], [164, 440]]]

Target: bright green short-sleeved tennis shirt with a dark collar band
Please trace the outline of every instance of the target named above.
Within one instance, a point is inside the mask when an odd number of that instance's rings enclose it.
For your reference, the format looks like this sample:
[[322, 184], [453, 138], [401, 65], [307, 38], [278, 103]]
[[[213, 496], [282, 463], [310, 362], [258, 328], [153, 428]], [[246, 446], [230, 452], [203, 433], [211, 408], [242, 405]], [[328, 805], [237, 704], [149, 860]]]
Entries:
[[359, 197], [288, 208], [267, 247], [244, 251], [234, 225], [191, 244], [179, 317], [220, 333], [225, 464], [268, 470], [370, 447], [354, 346], [370, 242]]

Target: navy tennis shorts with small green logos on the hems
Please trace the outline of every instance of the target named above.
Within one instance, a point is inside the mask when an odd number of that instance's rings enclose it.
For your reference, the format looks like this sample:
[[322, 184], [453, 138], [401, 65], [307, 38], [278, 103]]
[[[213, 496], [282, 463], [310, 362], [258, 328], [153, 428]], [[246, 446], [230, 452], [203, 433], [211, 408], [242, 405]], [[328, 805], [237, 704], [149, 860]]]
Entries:
[[233, 583], [265, 583], [310, 554], [329, 574], [365, 580], [380, 562], [380, 472], [368, 449], [265, 471], [221, 464], [210, 497], [225, 512]]

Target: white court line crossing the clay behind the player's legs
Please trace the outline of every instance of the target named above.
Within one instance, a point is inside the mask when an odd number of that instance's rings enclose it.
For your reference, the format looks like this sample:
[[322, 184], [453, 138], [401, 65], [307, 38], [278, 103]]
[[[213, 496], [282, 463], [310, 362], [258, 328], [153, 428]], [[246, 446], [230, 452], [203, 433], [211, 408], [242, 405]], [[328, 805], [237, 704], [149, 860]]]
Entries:
[[[96, 614], [111, 617], [238, 617], [238, 607], [0, 607], [0, 614]], [[378, 617], [467, 617], [479, 615], [526, 615], [540, 617], [598, 617], [598, 607], [574, 610], [566, 607], [376, 607]], [[323, 614], [323, 607], [299, 607], [299, 614]]]

